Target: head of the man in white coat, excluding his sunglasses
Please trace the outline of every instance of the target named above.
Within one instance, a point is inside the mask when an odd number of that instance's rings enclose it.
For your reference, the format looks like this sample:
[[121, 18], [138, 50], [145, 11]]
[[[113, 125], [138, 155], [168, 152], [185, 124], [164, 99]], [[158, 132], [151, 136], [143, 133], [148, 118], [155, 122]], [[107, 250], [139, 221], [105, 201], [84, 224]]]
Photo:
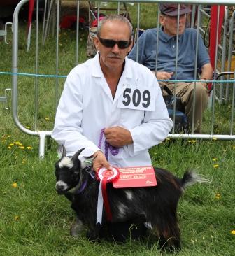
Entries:
[[132, 42], [127, 48], [122, 49], [117, 43], [113, 47], [106, 47], [101, 43], [102, 39], [129, 42], [130, 37], [129, 27], [124, 22], [112, 20], [103, 24], [99, 38], [94, 38], [94, 43], [97, 50], [99, 50], [101, 69], [103, 71], [122, 69], [124, 58], [131, 50]]

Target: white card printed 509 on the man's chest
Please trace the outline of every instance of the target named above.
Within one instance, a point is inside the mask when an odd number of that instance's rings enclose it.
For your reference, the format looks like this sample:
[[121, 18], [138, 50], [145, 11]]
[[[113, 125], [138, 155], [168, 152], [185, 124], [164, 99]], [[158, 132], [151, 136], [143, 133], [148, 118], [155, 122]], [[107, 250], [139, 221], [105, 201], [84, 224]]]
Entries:
[[155, 87], [127, 87], [118, 99], [118, 108], [155, 111], [156, 94]]

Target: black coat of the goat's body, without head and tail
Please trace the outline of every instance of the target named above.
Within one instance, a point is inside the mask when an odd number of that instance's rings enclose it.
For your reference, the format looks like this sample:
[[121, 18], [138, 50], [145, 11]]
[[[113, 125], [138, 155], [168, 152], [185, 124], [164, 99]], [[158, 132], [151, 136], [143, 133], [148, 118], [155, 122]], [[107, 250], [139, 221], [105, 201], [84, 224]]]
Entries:
[[[81, 171], [83, 182], [88, 179], [87, 187], [80, 194], [73, 194], [71, 207], [76, 211], [78, 218], [90, 229], [90, 237], [97, 238], [100, 229], [97, 229], [97, 195], [99, 182], [93, 180], [87, 171]], [[153, 230], [161, 241], [169, 245], [180, 247], [180, 231], [178, 228], [176, 208], [182, 194], [182, 182], [169, 171], [155, 169], [157, 177], [156, 187], [136, 187], [130, 189], [115, 189], [111, 183], [107, 184], [108, 201], [113, 215], [112, 222], [150, 222]], [[83, 183], [82, 182], [82, 183]], [[127, 199], [126, 192], [133, 192], [132, 200]], [[125, 208], [120, 213], [119, 207]], [[102, 223], [106, 223], [105, 211]], [[164, 243], [163, 242], [163, 243]]]

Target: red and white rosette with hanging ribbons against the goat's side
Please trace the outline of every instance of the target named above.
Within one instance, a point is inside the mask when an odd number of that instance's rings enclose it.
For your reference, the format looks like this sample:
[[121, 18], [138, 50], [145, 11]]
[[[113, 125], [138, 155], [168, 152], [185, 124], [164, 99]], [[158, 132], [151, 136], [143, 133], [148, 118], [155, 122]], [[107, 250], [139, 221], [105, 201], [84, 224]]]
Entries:
[[118, 168], [112, 167], [112, 170], [106, 168], [101, 168], [97, 173], [97, 180], [100, 180], [99, 183], [99, 194], [97, 202], [97, 223], [102, 223], [102, 212], [103, 212], [103, 203], [106, 211], [107, 220], [112, 220], [111, 208], [108, 203], [108, 195], [106, 191], [107, 183], [113, 182], [119, 177]]

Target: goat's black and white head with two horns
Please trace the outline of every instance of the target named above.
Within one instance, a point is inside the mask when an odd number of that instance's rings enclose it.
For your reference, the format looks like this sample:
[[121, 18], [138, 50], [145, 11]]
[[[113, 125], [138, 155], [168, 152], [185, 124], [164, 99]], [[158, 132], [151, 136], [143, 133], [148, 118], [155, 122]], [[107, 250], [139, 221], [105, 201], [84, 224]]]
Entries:
[[55, 164], [55, 176], [57, 180], [55, 189], [59, 194], [68, 192], [79, 183], [81, 162], [78, 156], [84, 150], [82, 148], [73, 157], [66, 157], [64, 145], [62, 145], [62, 148], [62, 157]]

